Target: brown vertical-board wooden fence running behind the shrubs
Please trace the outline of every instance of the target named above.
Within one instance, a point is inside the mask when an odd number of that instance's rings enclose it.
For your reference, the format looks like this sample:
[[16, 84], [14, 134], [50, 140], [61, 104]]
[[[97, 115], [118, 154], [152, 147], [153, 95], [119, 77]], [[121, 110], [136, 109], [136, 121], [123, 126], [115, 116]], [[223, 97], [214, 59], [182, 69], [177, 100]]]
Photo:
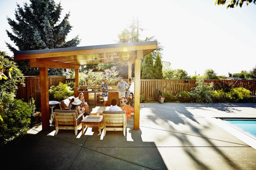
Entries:
[[[41, 107], [40, 98], [40, 77], [26, 76], [25, 87], [18, 85], [16, 99], [23, 99], [27, 102], [30, 96], [35, 100], [35, 106]], [[127, 82], [127, 79], [124, 79]], [[48, 76], [49, 88], [50, 86], [57, 86], [59, 82], [69, 83], [74, 82], [75, 79], [66, 79], [66, 76]], [[217, 83], [219, 80], [204, 80], [204, 82]], [[191, 91], [196, 86], [196, 80], [161, 80], [161, 79], [141, 79], [140, 80], [140, 94], [144, 98], [155, 99], [155, 90], [161, 89], [163, 93], [176, 95], [180, 91]], [[252, 96], [256, 95], [256, 80], [237, 80], [238, 87], [244, 87], [252, 92]]]

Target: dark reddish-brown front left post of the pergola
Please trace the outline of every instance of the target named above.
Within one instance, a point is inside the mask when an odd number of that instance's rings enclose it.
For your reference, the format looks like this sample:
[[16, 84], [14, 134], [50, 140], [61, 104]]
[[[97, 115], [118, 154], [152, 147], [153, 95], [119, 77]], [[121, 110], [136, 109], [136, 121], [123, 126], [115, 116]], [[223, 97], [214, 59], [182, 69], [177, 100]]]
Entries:
[[48, 130], [50, 129], [48, 68], [40, 68], [39, 71], [40, 71], [42, 130]]

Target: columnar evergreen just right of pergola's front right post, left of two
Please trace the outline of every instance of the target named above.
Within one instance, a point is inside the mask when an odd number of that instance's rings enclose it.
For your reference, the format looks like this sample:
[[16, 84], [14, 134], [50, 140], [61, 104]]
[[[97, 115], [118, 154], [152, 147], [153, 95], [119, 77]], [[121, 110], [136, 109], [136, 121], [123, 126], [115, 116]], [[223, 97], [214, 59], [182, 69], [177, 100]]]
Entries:
[[153, 54], [152, 52], [144, 57], [142, 79], [154, 79]]

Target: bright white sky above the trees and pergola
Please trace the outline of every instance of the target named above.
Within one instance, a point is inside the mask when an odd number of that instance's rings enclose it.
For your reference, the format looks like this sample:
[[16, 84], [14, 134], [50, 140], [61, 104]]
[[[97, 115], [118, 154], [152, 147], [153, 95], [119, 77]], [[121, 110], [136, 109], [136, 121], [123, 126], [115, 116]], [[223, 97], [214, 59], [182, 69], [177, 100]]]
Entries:
[[[138, 18], [140, 39], [154, 36], [163, 47], [162, 61], [189, 76], [212, 69], [228, 76], [256, 66], [256, 5], [226, 9], [215, 0], [54, 0], [61, 3], [61, 19], [70, 12], [73, 26], [66, 41], [79, 36], [81, 46], [115, 44], [132, 19]], [[14, 45], [5, 29], [6, 17], [15, 19], [16, 3], [29, 0], [0, 0], [0, 50]]]

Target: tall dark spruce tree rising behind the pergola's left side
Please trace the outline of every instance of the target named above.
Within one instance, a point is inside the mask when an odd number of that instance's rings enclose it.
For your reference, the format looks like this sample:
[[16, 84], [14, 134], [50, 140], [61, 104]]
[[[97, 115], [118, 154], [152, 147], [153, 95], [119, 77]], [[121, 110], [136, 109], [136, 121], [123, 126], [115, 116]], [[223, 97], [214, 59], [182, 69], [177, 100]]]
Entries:
[[[65, 41], [72, 26], [69, 24], [69, 13], [60, 21], [61, 4], [53, 0], [30, 0], [23, 8], [17, 4], [15, 20], [7, 17], [12, 32], [6, 30], [15, 47], [5, 42], [11, 51], [42, 50], [53, 48], [76, 47], [80, 43], [78, 36]], [[25, 75], [39, 75], [38, 68], [30, 68], [29, 62], [16, 61]], [[32, 70], [32, 71], [31, 71]]]

